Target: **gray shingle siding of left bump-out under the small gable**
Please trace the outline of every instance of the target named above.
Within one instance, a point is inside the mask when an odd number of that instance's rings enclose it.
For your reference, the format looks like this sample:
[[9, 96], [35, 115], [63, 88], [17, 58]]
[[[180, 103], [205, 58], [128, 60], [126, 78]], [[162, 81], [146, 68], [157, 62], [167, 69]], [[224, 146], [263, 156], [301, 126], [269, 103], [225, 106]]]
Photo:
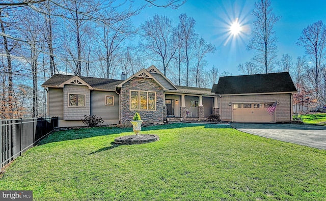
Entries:
[[[69, 107], [68, 94], [85, 94], [85, 107]], [[86, 86], [66, 84], [64, 88], [64, 120], [82, 120], [90, 115], [90, 90]]]

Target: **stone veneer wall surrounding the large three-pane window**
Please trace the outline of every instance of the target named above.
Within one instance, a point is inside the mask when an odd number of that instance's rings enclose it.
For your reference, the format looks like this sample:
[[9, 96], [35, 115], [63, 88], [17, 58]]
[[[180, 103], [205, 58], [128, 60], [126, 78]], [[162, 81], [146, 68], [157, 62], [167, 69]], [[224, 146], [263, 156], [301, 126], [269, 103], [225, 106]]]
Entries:
[[[156, 92], [156, 110], [130, 110], [130, 90]], [[138, 112], [143, 124], [163, 122], [163, 88], [153, 79], [133, 77], [122, 85], [120, 91], [120, 124], [130, 124]]]

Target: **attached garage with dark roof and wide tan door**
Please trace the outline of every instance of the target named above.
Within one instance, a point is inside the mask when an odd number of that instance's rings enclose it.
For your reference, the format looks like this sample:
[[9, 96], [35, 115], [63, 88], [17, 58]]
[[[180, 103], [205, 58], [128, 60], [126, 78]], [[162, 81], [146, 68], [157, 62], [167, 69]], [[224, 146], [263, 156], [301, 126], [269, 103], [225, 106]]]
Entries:
[[[290, 122], [296, 88], [288, 72], [220, 77], [212, 92], [219, 96], [221, 120]], [[275, 112], [267, 108], [276, 103]]]

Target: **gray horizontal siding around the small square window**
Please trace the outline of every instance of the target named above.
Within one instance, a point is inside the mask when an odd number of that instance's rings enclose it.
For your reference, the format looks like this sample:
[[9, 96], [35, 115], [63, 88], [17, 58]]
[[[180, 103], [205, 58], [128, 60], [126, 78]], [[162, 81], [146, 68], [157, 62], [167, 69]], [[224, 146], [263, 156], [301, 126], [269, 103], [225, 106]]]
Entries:
[[[105, 96], [114, 96], [114, 105], [105, 105]], [[115, 92], [91, 92], [91, 115], [103, 120], [119, 119], [119, 96]]]

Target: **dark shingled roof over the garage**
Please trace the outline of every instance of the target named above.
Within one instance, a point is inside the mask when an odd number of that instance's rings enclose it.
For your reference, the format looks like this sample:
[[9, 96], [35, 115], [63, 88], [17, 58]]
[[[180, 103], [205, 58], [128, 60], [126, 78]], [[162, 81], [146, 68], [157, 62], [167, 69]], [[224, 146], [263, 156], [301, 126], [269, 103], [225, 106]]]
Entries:
[[220, 77], [211, 90], [215, 94], [296, 92], [288, 72]]

